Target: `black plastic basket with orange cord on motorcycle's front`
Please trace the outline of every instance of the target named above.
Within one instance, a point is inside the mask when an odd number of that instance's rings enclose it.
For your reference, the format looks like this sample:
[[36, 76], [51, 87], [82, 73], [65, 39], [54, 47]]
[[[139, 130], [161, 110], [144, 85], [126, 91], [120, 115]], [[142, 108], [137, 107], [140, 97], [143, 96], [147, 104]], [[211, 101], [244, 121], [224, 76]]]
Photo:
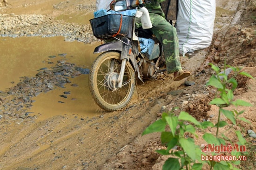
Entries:
[[133, 24], [133, 16], [108, 14], [90, 19], [96, 38], [126, 37]]

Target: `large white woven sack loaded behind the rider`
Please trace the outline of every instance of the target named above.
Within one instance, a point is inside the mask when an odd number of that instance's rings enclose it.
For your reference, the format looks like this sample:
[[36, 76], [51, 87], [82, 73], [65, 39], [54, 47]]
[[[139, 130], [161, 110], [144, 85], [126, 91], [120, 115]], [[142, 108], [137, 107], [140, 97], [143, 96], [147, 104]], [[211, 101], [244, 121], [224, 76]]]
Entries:
[[175, 24], [182, 56], [209, 47], [215, 20], [215, 0], [179, 0]]

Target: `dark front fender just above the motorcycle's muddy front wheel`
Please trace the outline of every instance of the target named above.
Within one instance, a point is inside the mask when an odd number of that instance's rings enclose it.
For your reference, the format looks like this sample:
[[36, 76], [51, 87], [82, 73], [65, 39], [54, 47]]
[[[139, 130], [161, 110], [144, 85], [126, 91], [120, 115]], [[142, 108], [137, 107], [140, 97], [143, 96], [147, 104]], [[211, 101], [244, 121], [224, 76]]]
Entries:
[[105, 44], [101, 44], [94, 49], [94, 53], [106, 52], [106, 51], [122, 51], [121, 41], [111, 41]]

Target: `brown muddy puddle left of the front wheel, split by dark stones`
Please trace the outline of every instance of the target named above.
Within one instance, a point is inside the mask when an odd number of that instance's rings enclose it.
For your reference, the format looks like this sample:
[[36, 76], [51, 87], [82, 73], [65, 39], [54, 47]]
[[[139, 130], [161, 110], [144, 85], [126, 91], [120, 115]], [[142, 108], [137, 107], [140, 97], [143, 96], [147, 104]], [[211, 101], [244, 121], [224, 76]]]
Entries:
[[[63, 37], [0, 38], [0, 91], [15, 86], [21, 77], [35, 77], [40, 70], [50, 69], [60, 60], [90, 69], [97, 57], [93, 54], [97, 45], [65, 42]], [[28, 112], [38, 115], [37, 120], [62, 114], [81, 117], [100, 114], [89, 92], [88, 74], [68, 80], [71, 83], [63, 88], [54, 86], [53, 90], [33, 97], [33, 107]], [[65, 97], [61, 97], [64, 93]]]

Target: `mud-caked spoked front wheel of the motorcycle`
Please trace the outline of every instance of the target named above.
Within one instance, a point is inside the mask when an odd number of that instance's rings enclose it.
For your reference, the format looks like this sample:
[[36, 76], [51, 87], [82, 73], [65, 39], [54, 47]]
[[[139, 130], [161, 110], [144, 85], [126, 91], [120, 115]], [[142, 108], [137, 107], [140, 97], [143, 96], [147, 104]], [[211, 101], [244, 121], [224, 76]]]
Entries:
[[125, 107], [135, 91], [135, 73], [129, 62], [125, 64], [122, 87], [116, 88], [115, 81], [122, 63], [120, 57], [116, 51], [102, 53], [94, 61], [89, 74], [89, 88], [94, 101], [108, 112]]

